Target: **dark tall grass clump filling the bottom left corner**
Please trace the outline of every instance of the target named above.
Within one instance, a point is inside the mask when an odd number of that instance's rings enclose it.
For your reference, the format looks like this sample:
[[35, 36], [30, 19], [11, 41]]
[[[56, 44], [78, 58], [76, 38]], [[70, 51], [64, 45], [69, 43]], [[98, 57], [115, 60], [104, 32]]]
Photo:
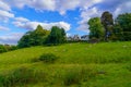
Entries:
[[20, 67], [8, 74], [0, 74], [0, 87], [23, 86], [28, 83], [37, 83], [45, 79], [45, 73], [34, 72], [27, 67]]

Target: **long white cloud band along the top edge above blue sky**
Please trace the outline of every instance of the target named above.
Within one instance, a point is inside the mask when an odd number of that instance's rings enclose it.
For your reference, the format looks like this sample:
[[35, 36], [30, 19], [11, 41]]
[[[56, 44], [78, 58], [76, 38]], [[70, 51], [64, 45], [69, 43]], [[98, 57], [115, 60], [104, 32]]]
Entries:
[[87, 9], [103, 0], [4, 0], [11, 7], [24, 8], [29, 7], [38, 11], [58, 11], [66, 14], [68, 10]]

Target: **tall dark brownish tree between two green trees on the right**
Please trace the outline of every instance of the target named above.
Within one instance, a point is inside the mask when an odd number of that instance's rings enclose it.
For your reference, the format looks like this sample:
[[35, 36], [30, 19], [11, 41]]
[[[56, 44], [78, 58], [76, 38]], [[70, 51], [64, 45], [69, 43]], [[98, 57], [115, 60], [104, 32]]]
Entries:
[[112, 26], [114, 26], [112, 14], [106, 11], [102, 14], [100, 20], [103, 26], [105, 27], [105, 40], [107, 41], [112, 34]]

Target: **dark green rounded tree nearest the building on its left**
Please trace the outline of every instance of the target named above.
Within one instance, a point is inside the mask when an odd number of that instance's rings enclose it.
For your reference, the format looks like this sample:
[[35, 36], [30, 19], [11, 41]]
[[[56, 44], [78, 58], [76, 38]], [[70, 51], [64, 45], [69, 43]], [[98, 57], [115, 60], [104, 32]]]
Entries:
[[47, 38], [47, 45], [59, 45], [66, 41], [66, 32], [63, 28], [52, 26], [50, 35]]

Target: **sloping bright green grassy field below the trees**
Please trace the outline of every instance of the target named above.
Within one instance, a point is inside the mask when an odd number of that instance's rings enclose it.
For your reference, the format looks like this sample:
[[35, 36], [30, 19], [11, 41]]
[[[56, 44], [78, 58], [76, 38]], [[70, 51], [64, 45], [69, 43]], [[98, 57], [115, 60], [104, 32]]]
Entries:
[[[37, 61], [43, 53], [59, 59]], [[131, 87], [131, 41], [39, 46], [1, 53], [0, 87]]]

